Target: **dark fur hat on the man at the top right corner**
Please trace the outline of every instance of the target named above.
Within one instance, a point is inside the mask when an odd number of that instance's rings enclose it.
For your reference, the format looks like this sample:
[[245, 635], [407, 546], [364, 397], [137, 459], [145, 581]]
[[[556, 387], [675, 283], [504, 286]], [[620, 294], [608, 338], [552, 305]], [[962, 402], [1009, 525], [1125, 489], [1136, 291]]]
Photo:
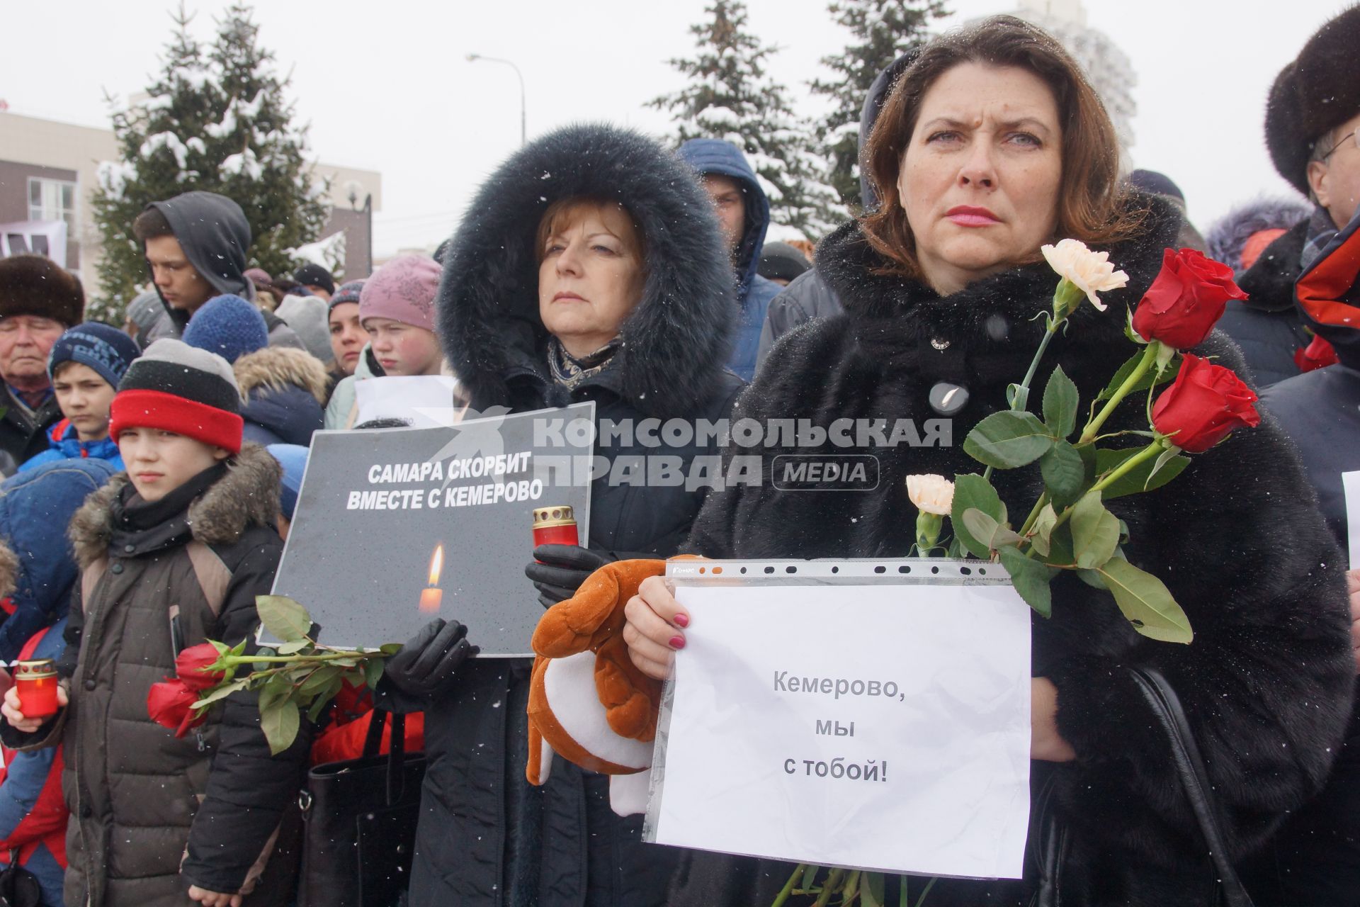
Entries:
[[1308, 38], [1266, 101], [1266, 146], [1280, 175], [1308, 194], [1312, 143], [1360, 113], [1360, 5]]

